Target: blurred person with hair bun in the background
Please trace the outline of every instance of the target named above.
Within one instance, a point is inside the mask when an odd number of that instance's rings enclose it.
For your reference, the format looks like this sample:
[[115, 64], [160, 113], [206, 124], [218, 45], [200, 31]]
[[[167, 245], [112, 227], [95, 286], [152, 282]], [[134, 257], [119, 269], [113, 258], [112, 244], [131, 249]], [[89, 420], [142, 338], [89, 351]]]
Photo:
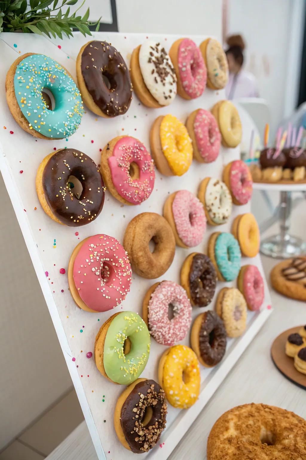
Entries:
[[245, 42], [241, 35], [230, 35], [226, 40], [228, 50], [228, 83], [225, 88], [228, 99], [258, 98], [256, 77], [242, 68]]

